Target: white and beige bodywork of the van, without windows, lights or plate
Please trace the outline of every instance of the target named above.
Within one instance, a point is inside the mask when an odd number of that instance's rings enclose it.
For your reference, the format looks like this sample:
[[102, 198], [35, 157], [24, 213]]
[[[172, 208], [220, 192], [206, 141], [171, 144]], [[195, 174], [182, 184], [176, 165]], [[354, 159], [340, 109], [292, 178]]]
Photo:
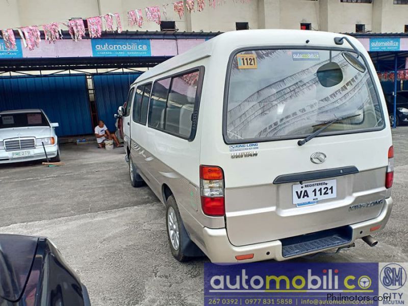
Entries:
[[[258, 155], [247, 158], [231, 158], [230, 144], [224, 140], [225, 84], [232, 54], [246, 47], [292, 46], [341, 47], [354, 52], [346, 41], [342, 45], [334, 43], [334, 38], [340, 36], [344, 35], [296, 30], [228, 32], [150, 69], [136, 80], [134, 85], [139, 86], [190, 68], [205, 68], [194, 140], [188, 141], [132, 120], [130, 133], [132, 158], [146, 183], [164, 203], [163, 187], [170, 188], [191, 240], [212, 261], [233, 262], [236, 255], [248, 252], [255, 256], [246, 261], [284, 260], [288, 257], [282, 256], [282, 239], [348, 226], [352, 231], [351, 240], [345, 243], [348, 245], [370, 235], [370, 226], [380, 225], [382, 229], [387, 222], [392, 208], [391, 189], [385, 188], [388, 149], [392, 146], [389, 120], [384, 120], [381, 130], [325, 135], [303, 146], [297, 145], [301, 138], [259, 142]], [[388, 118], [384, 94], [368, 53], [358, 40], [347, 37], [366, 60], [382, 116]], [[315, 152], [326, 155], [324, 163], [311, 162]], [[201, 210], [200, 165], [223, 169], [224, 217], [206, 216]], [[283, 175], [343, 167], [354, 167], [358, 171], [307, 181], [337, 181], [336, 198], [321, 200], [316, 205], [293, 205], [292, 185], [299, 182], [274, 184], [276, 178]], [[350, 209], [375, 200], [380, 200], [378, 205]]]

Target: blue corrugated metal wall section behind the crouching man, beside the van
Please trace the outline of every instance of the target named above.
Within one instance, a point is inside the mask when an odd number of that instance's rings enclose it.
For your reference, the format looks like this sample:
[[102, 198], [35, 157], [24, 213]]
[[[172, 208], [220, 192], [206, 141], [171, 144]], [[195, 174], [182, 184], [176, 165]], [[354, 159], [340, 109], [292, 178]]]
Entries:
[[96, 108], [99, 120], [104, 120], [109, 131], [115, 131], [118, 107], [123, 105], [132, 83], [141, 73], [110, 73], [93, 76]]

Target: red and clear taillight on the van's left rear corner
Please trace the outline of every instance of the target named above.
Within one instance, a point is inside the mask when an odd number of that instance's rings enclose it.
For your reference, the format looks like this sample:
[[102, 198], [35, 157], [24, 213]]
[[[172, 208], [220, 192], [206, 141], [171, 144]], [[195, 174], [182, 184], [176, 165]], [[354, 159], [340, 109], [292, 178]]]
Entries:
[[224, 173], [220, 167], [200, 166], [200, 194], [202, 212], [208, 216], [223, 216]]

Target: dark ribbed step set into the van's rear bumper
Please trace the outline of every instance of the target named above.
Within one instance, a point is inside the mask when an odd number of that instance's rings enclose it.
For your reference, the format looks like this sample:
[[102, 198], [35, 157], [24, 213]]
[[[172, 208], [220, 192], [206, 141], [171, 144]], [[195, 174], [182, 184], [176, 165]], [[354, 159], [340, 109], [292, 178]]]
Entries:
[[282, 239], [282, 256], [288, 258], [344, 245], [351, 242], [351, 237], [351, 227], [343, 226], [332, 230]]

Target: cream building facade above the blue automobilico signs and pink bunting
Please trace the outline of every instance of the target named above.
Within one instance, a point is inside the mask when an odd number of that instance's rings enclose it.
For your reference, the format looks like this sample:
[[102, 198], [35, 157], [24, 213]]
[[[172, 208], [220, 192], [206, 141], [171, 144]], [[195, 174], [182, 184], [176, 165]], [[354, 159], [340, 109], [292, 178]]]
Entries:
[[216, 8], [212, 8], [206, 0], [202, 12], [186, 12], [181, 19], [168, 0], [0, 0], [0, 29], [117, 12], [125, 30], [160, 31], [160, 25], [154, 22], [145, 22], [141, 29], [127, 25], [127, 11], [157, 5], [163, 21], [174, 21], [166, 23], [166, 27], [188, 32], [225, 32], [237, 27], [341, 33], [408, 31], [406, 0], [216, 0], [216, 3]]

